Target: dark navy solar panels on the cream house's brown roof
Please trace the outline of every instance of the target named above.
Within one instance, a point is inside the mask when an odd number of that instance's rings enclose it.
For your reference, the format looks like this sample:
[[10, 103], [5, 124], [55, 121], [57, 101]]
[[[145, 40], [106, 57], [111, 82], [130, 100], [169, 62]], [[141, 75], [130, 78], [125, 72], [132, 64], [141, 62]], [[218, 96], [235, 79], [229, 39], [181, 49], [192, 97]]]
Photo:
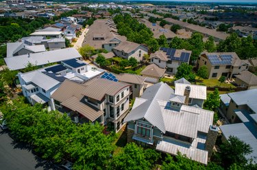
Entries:
[[190, 53], [184, 53], [182, 52], [180, 57], [174, 57], [175, 55], [175, 48], [166, 48], [166, 47], [160, 47], [160, 50], [163, 52], [166, 52], [166, 55], [168, 55], [171, 60], [173, 61], [182, 61], [182, 62], [188, 62], [190, 59]]

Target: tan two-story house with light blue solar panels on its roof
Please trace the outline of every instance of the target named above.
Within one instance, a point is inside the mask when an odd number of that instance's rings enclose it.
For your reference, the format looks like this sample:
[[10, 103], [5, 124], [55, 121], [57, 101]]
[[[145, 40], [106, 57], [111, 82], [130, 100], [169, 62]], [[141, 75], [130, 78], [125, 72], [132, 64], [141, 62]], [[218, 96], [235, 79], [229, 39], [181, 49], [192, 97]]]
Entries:
[[208, 68], [208, 79], [219, 79], [221, 76], [231, 79], [234, 75], [248, 70], [249, 61], [239, 59], [236, 53], [202, 53], [197, 61], [197, 68]]

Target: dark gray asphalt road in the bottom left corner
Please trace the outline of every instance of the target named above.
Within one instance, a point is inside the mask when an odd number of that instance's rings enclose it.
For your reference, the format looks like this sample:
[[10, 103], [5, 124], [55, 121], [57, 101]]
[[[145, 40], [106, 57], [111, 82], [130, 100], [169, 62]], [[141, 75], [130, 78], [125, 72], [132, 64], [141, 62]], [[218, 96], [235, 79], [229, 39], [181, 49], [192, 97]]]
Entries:
[[30, 170], [52, 169], [52, 165], [32, 154], [24, 143], [16, 143], [0, 128], [0, 169]]

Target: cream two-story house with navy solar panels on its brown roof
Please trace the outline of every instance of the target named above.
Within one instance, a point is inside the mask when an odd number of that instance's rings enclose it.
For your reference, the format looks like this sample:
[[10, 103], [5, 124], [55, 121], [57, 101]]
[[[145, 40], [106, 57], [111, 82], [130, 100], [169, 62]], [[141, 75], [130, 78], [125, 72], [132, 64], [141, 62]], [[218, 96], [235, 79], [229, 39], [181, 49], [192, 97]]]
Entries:
[[166, 68], [166, 72], [175, 74], [182, 62], [189, 63], [191, 51], [178, 50], [175, 48], [161, 47], [156, 53], [150, 55], [150, 62], [160, 68]]

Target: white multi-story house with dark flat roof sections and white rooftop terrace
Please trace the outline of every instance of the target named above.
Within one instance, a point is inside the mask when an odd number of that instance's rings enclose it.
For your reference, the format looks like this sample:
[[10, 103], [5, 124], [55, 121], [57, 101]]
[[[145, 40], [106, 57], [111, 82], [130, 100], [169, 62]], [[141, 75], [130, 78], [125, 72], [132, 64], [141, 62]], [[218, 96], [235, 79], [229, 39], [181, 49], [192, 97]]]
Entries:
[[83, 61], [71, 59], [62, 64], [40, 68], [31, 72], [21, 73], [18, 77], [23, 90], [23, 96], [31, 104], [45, 104], [49, 110], [53, 110], [53, 94], [66, 79], [78, 83], [84, 83], [102, 74], [104, 70], [92, 67]]

